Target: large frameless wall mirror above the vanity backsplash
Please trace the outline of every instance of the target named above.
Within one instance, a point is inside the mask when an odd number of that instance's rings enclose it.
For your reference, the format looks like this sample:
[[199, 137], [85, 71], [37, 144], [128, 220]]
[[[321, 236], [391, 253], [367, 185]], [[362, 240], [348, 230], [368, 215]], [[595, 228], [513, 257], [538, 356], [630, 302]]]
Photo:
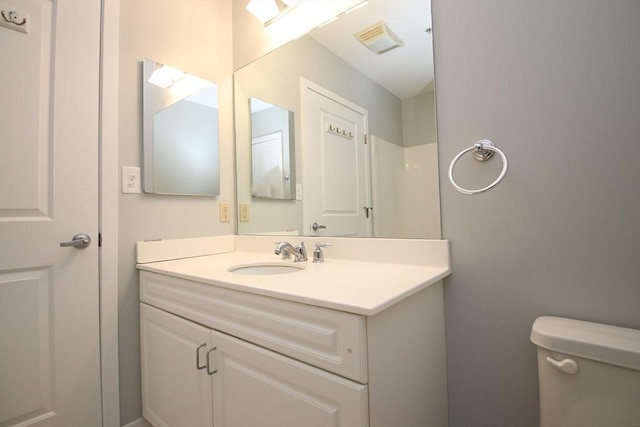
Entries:
[[[432, 46], [429, 1], [369, 1], [236, 70], [238, 234], [440, 238]], [[256, 195], [252, 98], [291, 112], [291, 198]]]

